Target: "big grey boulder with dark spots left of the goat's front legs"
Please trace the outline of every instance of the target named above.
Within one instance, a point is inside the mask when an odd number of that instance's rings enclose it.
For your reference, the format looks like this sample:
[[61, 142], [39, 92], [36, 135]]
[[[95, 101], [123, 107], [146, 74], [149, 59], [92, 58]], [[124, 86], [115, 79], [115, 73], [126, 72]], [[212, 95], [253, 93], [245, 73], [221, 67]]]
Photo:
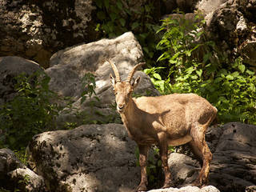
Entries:
[[124, 126], [83, 125], [30, 142], [30, 162], [51, 191], [132, 191], [139, 182], [135, 143]]

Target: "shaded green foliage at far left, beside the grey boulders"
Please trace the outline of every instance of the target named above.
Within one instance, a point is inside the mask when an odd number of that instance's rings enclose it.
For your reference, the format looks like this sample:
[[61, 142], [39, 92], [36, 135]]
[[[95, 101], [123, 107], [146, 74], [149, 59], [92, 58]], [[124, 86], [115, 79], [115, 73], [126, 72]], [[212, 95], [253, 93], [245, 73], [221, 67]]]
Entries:
[[54, 129], [58, 107], [50, 102], [56, 94], [49, 90], [46, 74], [21, 74], [15, 81], [17, 95], [0, 106], [0, 147], [20, 150], [34, 134]]

